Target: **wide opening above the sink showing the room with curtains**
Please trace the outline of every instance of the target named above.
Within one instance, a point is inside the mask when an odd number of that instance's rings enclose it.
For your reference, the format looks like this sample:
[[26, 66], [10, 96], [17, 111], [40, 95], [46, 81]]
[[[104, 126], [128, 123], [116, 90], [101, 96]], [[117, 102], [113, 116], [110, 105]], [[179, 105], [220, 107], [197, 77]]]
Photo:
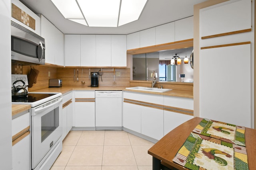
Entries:
[[[158, 74], [156, 81], [193, 82], [193, 69], [189, 63], [184, 64], [184, 58], [189, 59], [192, 51], [193, 47], [190, 47], [133, 55], [133, 80], [152, 80], [154, 70]], [[180, 65], [170, 65], [175, 54], [182, 59]], [[180, 74], [185, 74], [185, 77], [181, 78]]]

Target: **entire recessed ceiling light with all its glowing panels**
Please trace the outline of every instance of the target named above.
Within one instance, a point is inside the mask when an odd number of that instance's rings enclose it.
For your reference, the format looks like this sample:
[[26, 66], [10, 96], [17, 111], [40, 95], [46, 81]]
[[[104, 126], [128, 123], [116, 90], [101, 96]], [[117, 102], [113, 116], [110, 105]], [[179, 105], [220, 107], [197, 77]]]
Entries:
[[148, 0], [51, 0], [64, 18], [89, 27], [119, 27], [140, 18]]

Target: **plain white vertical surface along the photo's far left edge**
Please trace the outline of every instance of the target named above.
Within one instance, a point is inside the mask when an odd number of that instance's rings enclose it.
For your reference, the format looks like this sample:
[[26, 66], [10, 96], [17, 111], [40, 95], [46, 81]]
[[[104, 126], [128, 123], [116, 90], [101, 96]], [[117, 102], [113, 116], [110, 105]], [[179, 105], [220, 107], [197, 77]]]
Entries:
[[12, 169], [11, 1], [0, 0], [0, 169]]

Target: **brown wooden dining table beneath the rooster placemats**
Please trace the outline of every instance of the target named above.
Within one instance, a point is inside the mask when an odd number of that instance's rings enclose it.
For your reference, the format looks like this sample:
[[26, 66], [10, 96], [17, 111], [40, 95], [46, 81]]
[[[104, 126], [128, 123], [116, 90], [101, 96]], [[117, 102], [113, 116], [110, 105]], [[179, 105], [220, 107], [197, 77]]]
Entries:
[[[194, 117], [179, 125], [148, 150], [148, 154], [153, 156], [153, 170], [161, 170], [163, 166], [171, 170], [189, 170], [184, 166], [174, 163], [172, 159], [202, 119]], [[249, 170], [256, 170], [256, 129], [245, 128], [245, 145]]]

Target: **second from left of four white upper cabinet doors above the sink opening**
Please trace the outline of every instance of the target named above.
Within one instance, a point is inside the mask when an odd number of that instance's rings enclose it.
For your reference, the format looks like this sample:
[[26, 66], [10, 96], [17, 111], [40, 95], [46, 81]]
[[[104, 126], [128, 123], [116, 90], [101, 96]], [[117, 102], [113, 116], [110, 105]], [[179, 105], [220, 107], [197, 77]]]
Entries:
[[140, 31], [140, 48], [156, 45], [156, 27]]

